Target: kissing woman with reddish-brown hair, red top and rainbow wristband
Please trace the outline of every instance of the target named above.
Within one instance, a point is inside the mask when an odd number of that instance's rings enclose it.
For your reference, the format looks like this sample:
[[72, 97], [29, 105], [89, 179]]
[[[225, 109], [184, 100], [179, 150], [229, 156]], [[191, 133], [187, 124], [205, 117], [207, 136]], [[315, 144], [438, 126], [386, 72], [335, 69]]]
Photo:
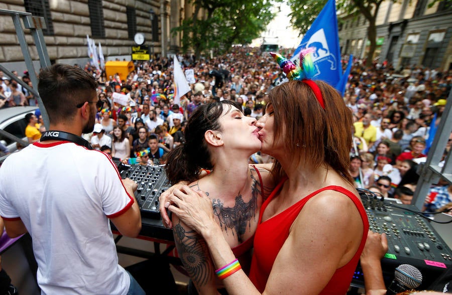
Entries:
[[[310, 58], [300, 60], [313, 68]], [[295, 69], [280, 56], [278, 63]], [[203, 236], [229, 294], [346, 293], [367, 238], [367, 215], [348, 171], [352, 113], [333, 87], [308, 79], [313, 75], [286, 74], [297, 80], [272, 89], [257, 123], [261, 151], [275, 157], [272, 173], [282, 180], [261, 208], [250, 278], [210, 199], [187, 186], [170, 197], [169, 210]]]

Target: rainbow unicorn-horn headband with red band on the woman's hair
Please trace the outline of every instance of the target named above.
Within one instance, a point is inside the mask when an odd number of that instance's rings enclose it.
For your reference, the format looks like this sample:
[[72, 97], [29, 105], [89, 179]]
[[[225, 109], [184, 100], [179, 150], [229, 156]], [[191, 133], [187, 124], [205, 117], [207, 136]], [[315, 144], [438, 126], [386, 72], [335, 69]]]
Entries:
[[300, 52], [300, 66], [297, 67], [291, 60], [283, 57], [282, 55], [274, 52], [270, 52], [271, 56], [279, 64], [279, 67], [284, 71], [289, 80], [300, 80], [306, 83], [309, 88], [314, 92], [317, 101], [320, 106], [325, 109], [325, 103], [323, 101], [322, 92], [318, 88], [317, 84], [311, 80], [315, 75], [315, 67], [312, 61], [311, 53], [314, 52], [314, 48], [308, 47]]

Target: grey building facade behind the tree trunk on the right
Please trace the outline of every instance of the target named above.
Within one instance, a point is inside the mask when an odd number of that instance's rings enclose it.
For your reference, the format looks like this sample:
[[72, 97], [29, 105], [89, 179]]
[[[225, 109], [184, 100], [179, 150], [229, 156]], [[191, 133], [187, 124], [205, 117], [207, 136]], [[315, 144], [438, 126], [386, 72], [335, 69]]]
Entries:
[[[377, 49], [374, 58], [396, 69], [421, 65], [452, 69], [452, 7], [447, 1], [385, 1], [377, 14]], [[449, 4], [450, 5], [450, 4]], [[368, 22], [363, 16], [342, 16], [341, 52], [365, 58], [369, 50]]]

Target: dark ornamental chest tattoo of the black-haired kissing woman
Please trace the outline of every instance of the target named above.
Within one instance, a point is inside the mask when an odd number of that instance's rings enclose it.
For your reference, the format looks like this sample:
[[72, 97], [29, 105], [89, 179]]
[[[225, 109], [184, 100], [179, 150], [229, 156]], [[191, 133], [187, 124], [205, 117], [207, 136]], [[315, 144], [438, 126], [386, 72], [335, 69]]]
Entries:
[[221, 228], [224, 228], [225, 231], [228, 231], [228, 228], [234, 229], [239, 242], [243, 242], [243, 235], [247, 226], [251, 228], [251, 219], [256, 217], [258, 196], [261, 194], [259, 182], [253, 174], [251, 174], [251, 178], [253, 179], [252, 197], [249, 202], [243, 201], [240, 191], [236, 197], [234, 207], [224, 207], [224, 203], [220, 199], [212, 200], [213, 214], [218, 217]]

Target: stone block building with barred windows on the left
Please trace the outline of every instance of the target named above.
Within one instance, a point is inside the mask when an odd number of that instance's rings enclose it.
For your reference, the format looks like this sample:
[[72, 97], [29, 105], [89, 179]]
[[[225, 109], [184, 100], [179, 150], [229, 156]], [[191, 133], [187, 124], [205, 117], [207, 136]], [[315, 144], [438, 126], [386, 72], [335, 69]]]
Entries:
[[[143, 46], [149, 46], [151, 55], [177, 52], [180, 34], [171, 34], [171, 29], [192, 13], [186, 0], [2, 0], [0, 9], [43, 17], [51, 62], [81, 65], [88, 60], [86, 35], [101, 44], [105, 60], [131, 60], [136, 33], [144, 34]], [[25, 70], [11, 16], [0, 15], [0, 32], [0, 63], [11, 70]], [[27, 30], [25, 35], [37, 60], [33, 38]]]

